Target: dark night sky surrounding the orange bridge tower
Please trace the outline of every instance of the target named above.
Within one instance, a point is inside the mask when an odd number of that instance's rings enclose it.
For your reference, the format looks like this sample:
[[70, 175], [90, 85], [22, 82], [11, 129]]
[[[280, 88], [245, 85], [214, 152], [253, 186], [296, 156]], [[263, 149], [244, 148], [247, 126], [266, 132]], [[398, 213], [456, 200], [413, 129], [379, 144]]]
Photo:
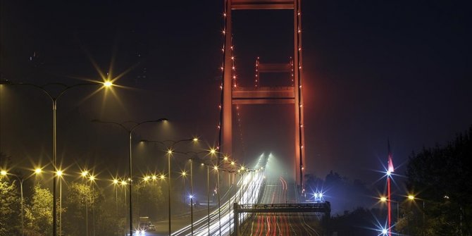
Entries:
[[[306, 170], [371, 182], [387, 164], [387, 139], [401, 166], [411, 151], [444, 144], [472, 125], [470, 10], [470, 1], [302, 1]], [[111, 77], [128, 71], [115, 81], [123, 88], [91, 97], [94, 87], [75, 88], [58, 101], [59, 159], [124, 174], [126, 133], [90, 120], [166, 117], [170, 125], [139, 128], [135, 140], [199, 135], [217, 144], [222, 13], [223, 1], [2, 0], [1, 79], [73, 85], [101, 80], [94, 63], [104, 73], [112, 64]], [[291, 17], [235, 13], [239, 85], [252, 85], [256, 56], [288, 61]], [[0, 99], [0, 151], [25, 168], [47, 163], [47, 97], [3, 86]], [[287, 159], [292, 111], [241, 106], [235, 158], [251, 163], [271, 151]], [[155, 160], [151, 151], [136, 152], [137, 169]]]

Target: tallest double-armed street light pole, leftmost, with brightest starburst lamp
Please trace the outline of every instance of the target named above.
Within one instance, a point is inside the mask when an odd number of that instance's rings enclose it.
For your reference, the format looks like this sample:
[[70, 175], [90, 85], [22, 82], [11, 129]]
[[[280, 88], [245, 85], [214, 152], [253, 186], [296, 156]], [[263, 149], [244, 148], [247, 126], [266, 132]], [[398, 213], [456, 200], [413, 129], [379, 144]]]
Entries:
[[[53, 169], [54, 169], [54, 172], [57, 171], [57, 145], [56, 145], [56, 111], [57, 111], [57, 100], [64, 94], [66, 93], [66, 91], [68, 91], [69, 89], [72, 89], [73, 87], [78, 87], [78, 86], [82, 86], [82, 85], [100, 85], [102, 87], [111, 87], [113, 86], [113, 83], [111, 81], [105, 81], [105, 82], [88, 82], [88, 83], [80, 83], [80, 84], [76, 84], [76, 85], [71, 85], [71, 86], [68, 86], [68, 85], [64, 85], [63, 83], [59, 83], [59, 82], [52, 82], [52, 83], [48, 83], [46, 85], [34, 85], [34, 84], [29, 84], [29, 83], [23, 83], [23, 82], [20, 82], [20, 83], [13, 83], [13, 82], [10, 82], [8, 80], [4, 81], [0, 81], [0, 85], [28, 85], [28, 86], [31, 86], [31, 87], [35, 87], [37, 89], [40, 89], [42, 90], [42, 92], [44, 92], [47, 97], [49, 97], [49, 99], [51, 99], [51, 102], [52, 102], [52, 114], [53, 114], [53, 144], [52, 144], [52, 147], [53, 147], [53, 151], [52, 151], [52, 159], [53, 159]], [[58, 94], [56, 96], [54, 96], [53, 94], [51, 94], [51, 92], [49, 92], [48, 90], [46, 90], [46, 87], [47, 86], [50, 86], [50, 85], [56, 85], [56, 86], [61, 86], [63, 87], [63, 89], [58, 92]], [[57, 235], [57, 202], [56, 202], [56, 181], [57, 181], [57, 178], [56, 178], [56, 175], [53, 175], [53, 184], [52, 184], [52, 191], [53, 191], [53, 201], [52, 201], [52, 204], [53, 204], [53, 208], [52, 208], [52, 234], [53, 236], [56, 236]]]

